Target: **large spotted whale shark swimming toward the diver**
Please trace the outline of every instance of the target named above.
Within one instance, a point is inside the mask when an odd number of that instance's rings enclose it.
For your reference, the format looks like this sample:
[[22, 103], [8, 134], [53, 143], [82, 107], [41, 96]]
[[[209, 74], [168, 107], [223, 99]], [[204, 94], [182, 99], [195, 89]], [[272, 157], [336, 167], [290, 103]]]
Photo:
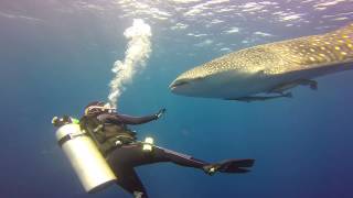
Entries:
[[244, 48], [181, 74], [176, 95], [238, 101], [291, 98], [290, 89], [318, 89], [314, 78], [353, 68], [353, 23], [324, 34]]

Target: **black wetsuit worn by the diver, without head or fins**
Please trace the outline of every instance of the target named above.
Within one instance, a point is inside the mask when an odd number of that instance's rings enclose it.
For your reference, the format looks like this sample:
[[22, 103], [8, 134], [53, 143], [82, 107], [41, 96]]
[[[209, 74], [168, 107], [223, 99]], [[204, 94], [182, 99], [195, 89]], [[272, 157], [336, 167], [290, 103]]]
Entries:
[[[106, 155], [108, 164], [118, 176], [117, 185], [121, 186], [130, 194], [142, 193], [141, 198], [148, 197], [141, 180], [133, 169], [136, 166], [160, 162], [172, 162], [181, 166], [202, 169], [204, 165], [207, 165], [207, 163], [203, 161], [159, 146], [153, 146], [152, 152], [143, 152], [142, 144], [136, 142], [136, 133], [128, 130], [126, 124], [142, 124], [150, 122], [158, 119], [156, 114], [147, 117], [130, 117], [116, 113], [104, 113], [96, 118], [100, 123], [104, 123], [103, 133], [105, 133], [105, 138], [101, 138], [104, 134], [100, 134], [100, 138], [98, 135], [98, 141], [108, 145], [105, 146], [104, 152], [106, 153], [104, 154]], [[120, 134], [124, 134], [122, 136], [127, 136], [128, 140], [121, 146], [115, 146], [115, 136]]]

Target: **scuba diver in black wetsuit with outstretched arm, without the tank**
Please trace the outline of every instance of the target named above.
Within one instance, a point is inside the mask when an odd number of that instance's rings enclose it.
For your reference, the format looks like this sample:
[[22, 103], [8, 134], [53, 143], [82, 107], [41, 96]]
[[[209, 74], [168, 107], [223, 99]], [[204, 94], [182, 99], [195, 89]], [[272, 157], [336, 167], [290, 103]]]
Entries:
[[[221, 173], [247, 173], [254, 164], [254, 160], [227, 160], [220, 163], [206, 163], [192, 156], [167, 150], [152, 142], [137, 141], [137, 133], [128, 129], [128, 124], [142, 124], [158, 120], [163, 116], [165, 109], [161, 109], [156, 114], [146, 117], [131, 117], [120, 114], [115, 108], [101, 101], [90, 102], [85, 108], [83, 118], [79, 120], [82, 130], [89, 131], [92, 139], [97, 144], [98, 150], [105, 156], [110, 168], [118, 176], [117, 185], [122, 187], [136, 198], [147, 198], [147, 191], [139, 179], [135, 167], [172, 162], [174, 164], [199, 168], [207, 175]], [[55, 119], [53, 123], [60, 127], [69, 122], [69, 118], [64, 120]]]

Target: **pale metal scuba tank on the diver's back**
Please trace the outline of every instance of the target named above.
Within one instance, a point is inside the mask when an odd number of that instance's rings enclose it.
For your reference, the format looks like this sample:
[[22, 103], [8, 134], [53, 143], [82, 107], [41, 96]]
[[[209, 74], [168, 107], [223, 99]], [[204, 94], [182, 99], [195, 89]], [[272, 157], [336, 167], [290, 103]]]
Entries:
[[77, 123], [60, 127], [56, 131], [56, 140], [86, 193], [96, 193], [116, 182], [116, 175], [96, 144]]

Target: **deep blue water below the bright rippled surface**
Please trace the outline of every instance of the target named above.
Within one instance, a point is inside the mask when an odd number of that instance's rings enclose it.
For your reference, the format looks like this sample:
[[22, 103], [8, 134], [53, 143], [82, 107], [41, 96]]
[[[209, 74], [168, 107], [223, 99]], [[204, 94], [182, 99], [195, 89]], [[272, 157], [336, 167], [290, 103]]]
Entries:
[[[42, 12], [51, 23], [0, 18], [0, 197], [129, 197], [117, 187], [86, 195], [50, 121], [79, 117], [87, 102], [106, 99], [110, 67], [124, 58], [122, 32], [132, 21]], [[161, 146], [211, 162], [253, 157], [256, 165], [249, 174], [213, 177], [173, 164], [139, 167], [150, 197], [353, 196], [353, 72], [319, 78], [318, 91], [296, 88], [293, 99], [174, 96], [168, 85], [176, 75], [221, 53], [203, 48], [188, 56], [192, 50], [173, 43], [189, 38], [163, 40], [158, 25], [152, 30], [151, 58], [121, 96], [119, 111], [143, 116], [165, 107], [163, 119], [133, 128], [141, 139], [152, 135]], [[318, 33], [277, 30], [275, 40]]]

